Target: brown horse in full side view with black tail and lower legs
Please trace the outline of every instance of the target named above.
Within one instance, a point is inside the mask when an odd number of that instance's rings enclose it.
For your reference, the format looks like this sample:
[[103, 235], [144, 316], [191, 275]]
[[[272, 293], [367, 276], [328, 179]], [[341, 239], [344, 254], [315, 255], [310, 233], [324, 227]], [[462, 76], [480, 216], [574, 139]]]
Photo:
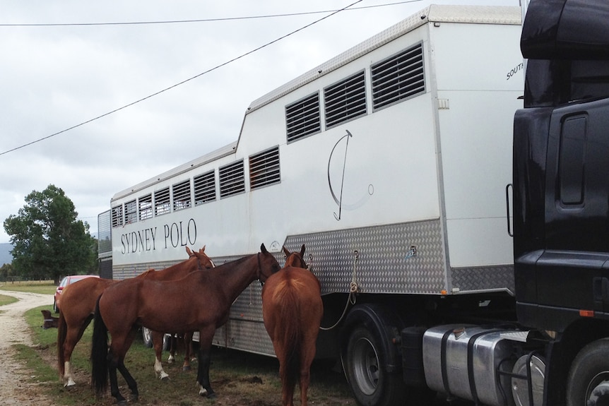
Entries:
[[[117, 369], [138, 398], [137, 383], [124, 364], [139, 326], [150, 330], [185, 333], [199, 331], [199, 395], [214, 398], [209, 365], [216, 328], [228, 320], [230, 305], [254, 280], [264, 282], [280, 266], [266, 251], [220, 265], [206, 272], [190, 273], [171, 282], [146, 278], [123, 280], [108, 287], [97, 301], [91, 347], [92, 384], [97, 395], [110, 390], [117, 403], [126, 400], [119, 392]], [[108, 348], [110, 332], [112, 342]]]

